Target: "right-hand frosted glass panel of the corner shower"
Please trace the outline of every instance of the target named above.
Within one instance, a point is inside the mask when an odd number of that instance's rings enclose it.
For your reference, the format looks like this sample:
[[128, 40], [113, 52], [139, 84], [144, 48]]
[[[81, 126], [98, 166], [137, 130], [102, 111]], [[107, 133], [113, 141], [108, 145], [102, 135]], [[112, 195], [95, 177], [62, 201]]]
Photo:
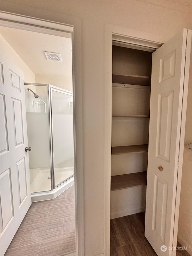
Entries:
[[74, 175], [73, 97], [52, 89], [55, 187]]

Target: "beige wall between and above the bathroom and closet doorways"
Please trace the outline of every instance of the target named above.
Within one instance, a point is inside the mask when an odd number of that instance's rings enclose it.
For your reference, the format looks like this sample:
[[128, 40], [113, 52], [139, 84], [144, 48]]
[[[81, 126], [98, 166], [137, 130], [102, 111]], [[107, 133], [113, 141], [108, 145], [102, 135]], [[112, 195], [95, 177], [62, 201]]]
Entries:
[[[62, 16], [57, 13], [82, 19], [85, 256], [104, 253], [105, 23], [155, 33], [164, 41], [176, 34], [179, 29], [190, 26], [189, 14], [185, 14], [186, 9], [183, 10], [181, 7], [178, 8], [179, 11], [174, 11], [173, 2], [169, 3], [169, 1], [166, 1], [168, 8], [156, 5], [161, 1], [153, 1], [149, 4], [150, 2], [1, 1], [1, 9], [4, 11], [59, 22], [62, 22]], [[35, 8], [46, 11], [38, 11]], [[192, 83], [189, 90], [192, 90]], [[189, 130], [187, 132], [189, 135], [186, 136], [190, 140], [191, 104], [191, 102], [188, 104], [186, 128]], [[186, 173], [190, 172], [188, 169], [190, 157], [186, 154], [184, 156]], [[187, 201], [189, 202], [189, 199]], [[190, 203], [191, 201], [190, 198]], [[185, 229], [189, 230], [190, 224]]]

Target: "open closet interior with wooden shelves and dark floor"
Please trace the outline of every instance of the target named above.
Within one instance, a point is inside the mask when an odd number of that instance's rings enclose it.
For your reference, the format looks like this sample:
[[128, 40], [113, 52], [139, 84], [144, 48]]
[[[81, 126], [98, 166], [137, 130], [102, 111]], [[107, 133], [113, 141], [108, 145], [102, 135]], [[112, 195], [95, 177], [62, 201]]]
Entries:
[[113, 41], [110, 256], [157, 255], [144, 236], [154, 51]]

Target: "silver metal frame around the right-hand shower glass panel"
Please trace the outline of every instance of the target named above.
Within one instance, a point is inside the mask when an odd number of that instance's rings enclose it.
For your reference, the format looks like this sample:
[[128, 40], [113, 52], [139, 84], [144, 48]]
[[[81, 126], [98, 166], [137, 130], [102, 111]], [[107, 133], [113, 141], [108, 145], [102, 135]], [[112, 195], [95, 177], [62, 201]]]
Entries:
[[[39, 84], [40, 85], [40, 84]], [[50, 171], [51, 171], [51, 191], [53, 191], [55, 188], [58, 188], [60, 185], [62, 185], [64, 182], [66, 182], [68, 179], [72, 178], [74, 176], [71, 175], [69, 178], [65, 179], [64, 181], [61, 181], [59, 184], [55, 186], [55, 165], [54, 165], [54, 151], [53, 151], [53, 115], [52, 115], [52, 91], [60, 92], [63, 94], [67, 94], [73, 97], [73, 93], [59, 88], [57, 86], [47, 84], [48, 87], [48, 109], [49, 109], [49, 142], [50, 142]], [[73, 116], [73, 132], [74, 132], [74, 116]], [[74, 134], [73, 134], [74, 138]], [[75, 152], [73, 153], [74, 156]], [[75, 157], [74, 157], [75, 160]]]

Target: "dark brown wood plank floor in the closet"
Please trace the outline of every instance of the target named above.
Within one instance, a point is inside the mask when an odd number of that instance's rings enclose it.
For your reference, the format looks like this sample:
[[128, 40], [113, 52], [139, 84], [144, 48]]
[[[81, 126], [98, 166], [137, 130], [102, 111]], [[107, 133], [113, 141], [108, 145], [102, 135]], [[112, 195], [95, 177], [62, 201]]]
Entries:
[[[112, 219], [110, 223], [110, 256], [157, 255], [144, 235], [145, 212]], [[190, 256], [187, 251], [177, 251], [176, 255]]]

